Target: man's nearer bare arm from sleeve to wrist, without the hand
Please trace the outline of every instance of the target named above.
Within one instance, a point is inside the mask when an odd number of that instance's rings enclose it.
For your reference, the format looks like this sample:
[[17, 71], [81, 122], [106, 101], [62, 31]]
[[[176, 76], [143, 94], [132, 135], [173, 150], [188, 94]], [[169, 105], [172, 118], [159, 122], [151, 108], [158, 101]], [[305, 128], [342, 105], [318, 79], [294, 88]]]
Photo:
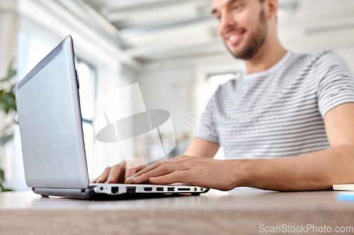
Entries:
[[331, 148], [288, 159], [244, 161], [244, 186], [278, 191], [331, 189], [354, 183], [354, 103], [345, 103], [324, 116]]

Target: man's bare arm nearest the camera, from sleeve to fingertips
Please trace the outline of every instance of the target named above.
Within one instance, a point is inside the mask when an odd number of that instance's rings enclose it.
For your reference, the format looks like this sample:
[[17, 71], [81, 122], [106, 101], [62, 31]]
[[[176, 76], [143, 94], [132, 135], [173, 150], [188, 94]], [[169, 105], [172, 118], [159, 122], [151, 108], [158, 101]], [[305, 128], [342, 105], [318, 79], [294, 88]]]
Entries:
[[[230, 190], [250, 186], [276, 191], [327, 190], [334, 183], [354, 183], [354, 103], [324, 116], [331, 148], [285, 159], [217, 160], [181, 156], [156, 162], [127, 183], [193, 183]], [[197, 147], [195, 145], [195, 147]]]

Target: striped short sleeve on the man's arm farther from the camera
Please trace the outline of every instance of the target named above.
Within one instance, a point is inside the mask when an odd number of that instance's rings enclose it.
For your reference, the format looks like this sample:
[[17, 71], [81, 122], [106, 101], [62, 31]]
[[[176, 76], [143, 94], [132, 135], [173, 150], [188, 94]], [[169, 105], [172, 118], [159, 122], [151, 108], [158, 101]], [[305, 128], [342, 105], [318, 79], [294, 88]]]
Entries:
[[215, 95], [212, 96], [207, 104], [205, 111], [200, 119], [197, 133], [195, 137], [203, 140], [208, 140], [214, 143], [219, 143], [219, 133], [217, 131], [217, 124], [214, 120], [215, 117]]

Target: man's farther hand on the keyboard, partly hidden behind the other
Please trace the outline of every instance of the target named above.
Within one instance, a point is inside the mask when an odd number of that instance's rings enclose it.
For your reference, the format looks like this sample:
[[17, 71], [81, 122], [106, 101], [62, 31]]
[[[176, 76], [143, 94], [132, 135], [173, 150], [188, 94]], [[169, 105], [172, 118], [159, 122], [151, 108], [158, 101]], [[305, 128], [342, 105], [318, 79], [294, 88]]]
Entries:
[[[122, 162], [113, 167], [107, 167], [101, 176], [94, 179], [92, 183], [125, 183], [127, 178], [147, 167], [147, 164], [138, 164], [137, 161], [139, 161], [139, 159], [133, 159], [132, 162]], [[132, 164], [140, 166], [129, 169], [127, 166]]]

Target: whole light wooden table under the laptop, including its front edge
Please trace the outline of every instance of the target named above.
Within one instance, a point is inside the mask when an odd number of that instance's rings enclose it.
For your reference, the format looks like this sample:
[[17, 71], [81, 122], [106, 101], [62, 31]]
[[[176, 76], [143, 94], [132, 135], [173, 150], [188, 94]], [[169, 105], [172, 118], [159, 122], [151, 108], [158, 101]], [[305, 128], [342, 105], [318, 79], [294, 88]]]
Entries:
[[217, 194], [89, 201], [0, 193], [0, 234], [266, 234], [260, 229], [283, 224], [354, 227], [354, 202], [337, 200], [334, 191], [239, 188]]

